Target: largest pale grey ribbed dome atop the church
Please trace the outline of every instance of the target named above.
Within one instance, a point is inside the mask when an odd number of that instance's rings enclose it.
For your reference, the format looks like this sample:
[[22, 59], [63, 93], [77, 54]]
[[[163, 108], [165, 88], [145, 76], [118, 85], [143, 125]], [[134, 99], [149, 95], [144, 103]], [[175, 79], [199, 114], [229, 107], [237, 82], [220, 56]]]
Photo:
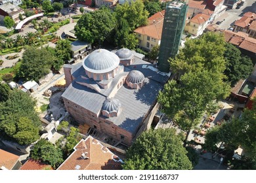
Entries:
[[83, 61], [83, 68], [91, 73], [108, 73], [119, 65], [119, 58], [116, 54], [99, 49], [93, 51]]

